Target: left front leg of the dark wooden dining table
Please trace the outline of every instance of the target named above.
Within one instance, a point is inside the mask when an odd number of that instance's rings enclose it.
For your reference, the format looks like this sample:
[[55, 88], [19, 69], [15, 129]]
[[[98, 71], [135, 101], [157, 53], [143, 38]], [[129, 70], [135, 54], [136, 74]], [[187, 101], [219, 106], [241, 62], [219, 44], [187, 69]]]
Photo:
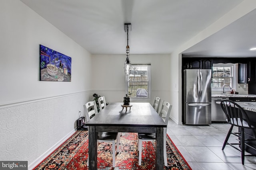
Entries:
[[89, 170], [97, 170], [97, 133], [95, 126], [89, 126]]

